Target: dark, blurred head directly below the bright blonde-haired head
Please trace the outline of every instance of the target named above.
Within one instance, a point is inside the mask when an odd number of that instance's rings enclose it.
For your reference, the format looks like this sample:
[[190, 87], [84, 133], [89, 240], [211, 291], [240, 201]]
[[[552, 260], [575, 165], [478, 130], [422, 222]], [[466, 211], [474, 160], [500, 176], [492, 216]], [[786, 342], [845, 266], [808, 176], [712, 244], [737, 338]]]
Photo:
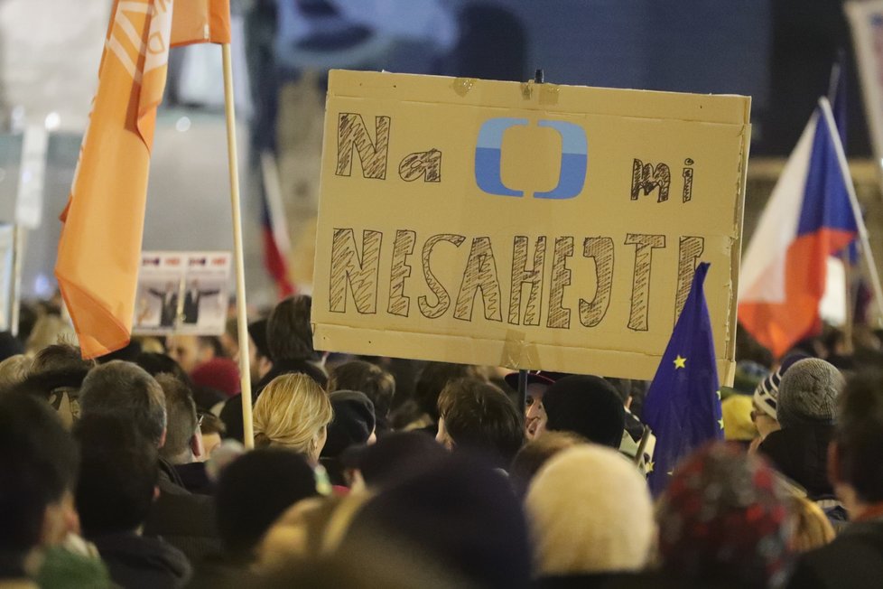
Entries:
[[247, 557], [294, 503], [315, 497], [311, 466], [299, 454], [259, 448], [225, 468], [215, 492], [218, 534], [228, 555]]

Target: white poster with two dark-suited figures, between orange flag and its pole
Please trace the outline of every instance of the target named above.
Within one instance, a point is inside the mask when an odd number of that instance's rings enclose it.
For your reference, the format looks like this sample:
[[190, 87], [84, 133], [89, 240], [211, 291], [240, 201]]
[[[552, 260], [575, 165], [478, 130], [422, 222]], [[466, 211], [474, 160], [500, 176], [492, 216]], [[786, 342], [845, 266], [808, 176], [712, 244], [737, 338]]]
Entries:
[[229, 302], [229, 252], [144, 252], [132, 332], [220, 335]]

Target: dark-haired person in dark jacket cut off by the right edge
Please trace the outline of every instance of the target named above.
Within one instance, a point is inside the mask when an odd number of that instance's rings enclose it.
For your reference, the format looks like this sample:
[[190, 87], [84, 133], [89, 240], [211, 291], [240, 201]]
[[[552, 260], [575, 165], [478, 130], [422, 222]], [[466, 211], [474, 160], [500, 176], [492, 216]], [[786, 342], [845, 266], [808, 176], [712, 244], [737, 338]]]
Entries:
[[878, 587], [883, 583], [883, 373], [862, 374], [843, 391], [831, 475], [851, 523], [831, 544], [806, 553], [794, 589]]

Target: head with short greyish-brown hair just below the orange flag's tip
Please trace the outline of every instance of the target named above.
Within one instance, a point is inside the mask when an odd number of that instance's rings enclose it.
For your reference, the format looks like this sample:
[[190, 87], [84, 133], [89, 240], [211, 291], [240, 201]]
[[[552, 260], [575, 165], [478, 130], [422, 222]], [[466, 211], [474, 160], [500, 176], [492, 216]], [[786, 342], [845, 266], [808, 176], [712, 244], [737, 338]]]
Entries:
[[116, 416], [159, 448], [165, 442], [165, 396], [156, 379], [130, 362], [92, 369], [79, 390], [80, 417]]

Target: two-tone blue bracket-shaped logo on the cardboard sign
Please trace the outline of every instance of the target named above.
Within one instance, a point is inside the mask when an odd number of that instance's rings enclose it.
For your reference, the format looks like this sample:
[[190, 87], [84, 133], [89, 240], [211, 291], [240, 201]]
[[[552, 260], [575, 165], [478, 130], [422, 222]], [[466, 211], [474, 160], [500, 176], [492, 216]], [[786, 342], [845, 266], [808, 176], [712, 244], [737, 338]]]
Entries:
[[[589, 166], [589, 142], [585, 130], [563, 121], [539, 121], [539, 126], [548, 126], [561, 135], [561, 171], [558, 185], [549, 192], [534, 192], [537, 199], [572, 199], [586, 182]], [[506, 186], [500, 176], [500, 162], [503, 159], [503, 134], [510, 126], [527, 126], [526, 118], [498, 117], [485, 121], [479, 130], [479, 141], [475, 148], [475, 182], [488, 194], [500, 196], [524, 196], [524, 191], [516, 191]]]

